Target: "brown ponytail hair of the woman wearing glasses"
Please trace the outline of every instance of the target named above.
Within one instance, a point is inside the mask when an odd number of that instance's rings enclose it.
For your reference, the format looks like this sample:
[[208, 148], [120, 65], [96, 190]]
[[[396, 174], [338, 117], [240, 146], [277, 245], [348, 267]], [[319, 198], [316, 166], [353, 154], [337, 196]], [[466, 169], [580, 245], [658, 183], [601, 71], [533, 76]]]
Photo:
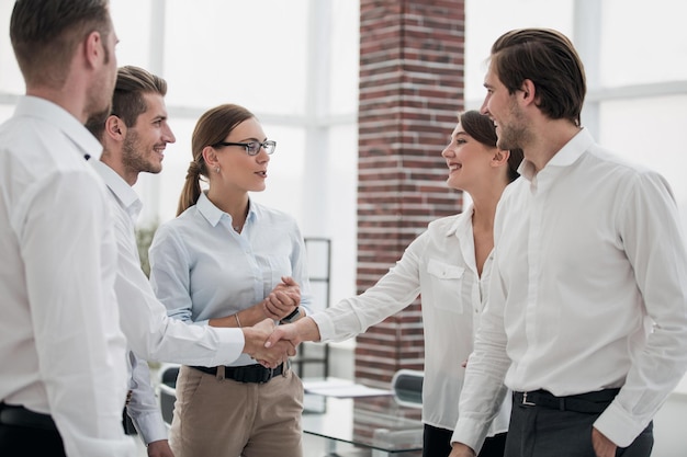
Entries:
[[232, 130], [255, 115], [243, 106], [224, 104], [203, 113], [198, 119], [191, 137], [191, 152], [193, 160], [189, 164], [185, 183], [179, 197], [177, 216], [195, 205], [201, 196], [200, 176], [209, 178], [207, 164], [203, 159], [203, 149], [216, 145], [232, 133]]

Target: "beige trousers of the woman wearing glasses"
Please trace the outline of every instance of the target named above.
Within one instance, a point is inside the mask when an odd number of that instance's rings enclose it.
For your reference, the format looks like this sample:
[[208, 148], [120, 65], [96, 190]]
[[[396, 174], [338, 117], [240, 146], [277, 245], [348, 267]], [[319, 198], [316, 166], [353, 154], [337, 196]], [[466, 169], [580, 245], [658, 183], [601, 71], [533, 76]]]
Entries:
[[182, 366], [169, 444], [176, 457], [302, 457], [303, 384], [288, 369], [243, 384]]

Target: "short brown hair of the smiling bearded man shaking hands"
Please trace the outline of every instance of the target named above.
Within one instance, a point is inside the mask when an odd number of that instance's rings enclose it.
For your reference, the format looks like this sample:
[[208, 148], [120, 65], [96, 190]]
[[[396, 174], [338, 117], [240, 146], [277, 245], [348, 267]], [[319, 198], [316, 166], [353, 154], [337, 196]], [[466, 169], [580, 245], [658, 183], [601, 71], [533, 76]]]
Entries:
[[[144, 94], [167, 94], [167, 81], [139, 67], [125, 66], [117, 70], [117, 80], [112, 95], [111, 113], [131, 127], [142, 113], [148, 110]], [[102, 139], [104, 123], [88, 122], [86, 127], [95, 138]]]

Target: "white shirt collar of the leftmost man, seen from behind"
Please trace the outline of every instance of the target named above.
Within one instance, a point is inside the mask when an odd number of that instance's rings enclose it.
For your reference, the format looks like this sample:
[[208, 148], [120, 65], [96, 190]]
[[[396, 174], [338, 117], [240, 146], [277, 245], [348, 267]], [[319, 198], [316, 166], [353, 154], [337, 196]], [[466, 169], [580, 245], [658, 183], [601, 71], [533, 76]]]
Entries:
[[22, 95], [19, 98], [15, 116], [27, 116], [43, 119], [59, 128], [80, 149], [87, 160], [100, 160], [102, 145], [69, 112], [61, 106], [37, 96]]

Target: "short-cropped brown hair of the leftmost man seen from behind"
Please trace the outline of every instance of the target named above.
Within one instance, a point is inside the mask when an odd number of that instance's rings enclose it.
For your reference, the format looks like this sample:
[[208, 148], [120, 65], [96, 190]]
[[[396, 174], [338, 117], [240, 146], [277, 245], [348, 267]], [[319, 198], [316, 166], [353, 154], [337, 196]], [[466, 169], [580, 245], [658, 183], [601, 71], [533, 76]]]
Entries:
[[112, 33], [108, 0], [18, 0], [10, 20], [10, 38], [27, 84], [60, 89], [79, 43], [99, 32]]

